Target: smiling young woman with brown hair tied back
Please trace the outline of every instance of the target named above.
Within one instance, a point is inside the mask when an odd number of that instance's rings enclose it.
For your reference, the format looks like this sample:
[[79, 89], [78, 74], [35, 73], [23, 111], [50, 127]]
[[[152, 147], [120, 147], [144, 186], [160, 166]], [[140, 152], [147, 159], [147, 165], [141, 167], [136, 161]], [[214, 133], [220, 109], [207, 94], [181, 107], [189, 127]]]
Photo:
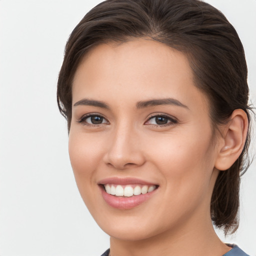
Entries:
[[238, 226], [247, 69], [222, 13], [198, 0], [107, 0], [72, 31], [57, 100], [103, 255], [247, 255]]

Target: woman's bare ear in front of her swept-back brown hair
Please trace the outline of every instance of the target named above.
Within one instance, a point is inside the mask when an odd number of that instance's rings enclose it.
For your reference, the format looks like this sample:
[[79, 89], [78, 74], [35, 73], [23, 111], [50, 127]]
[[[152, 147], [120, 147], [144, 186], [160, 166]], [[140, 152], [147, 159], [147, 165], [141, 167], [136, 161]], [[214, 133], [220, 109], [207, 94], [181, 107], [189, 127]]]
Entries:
[[215, 168], [228, 169], [242, 152], [248, 130], [248, 118], [242, 109], [235, 109], [222, 129]]

